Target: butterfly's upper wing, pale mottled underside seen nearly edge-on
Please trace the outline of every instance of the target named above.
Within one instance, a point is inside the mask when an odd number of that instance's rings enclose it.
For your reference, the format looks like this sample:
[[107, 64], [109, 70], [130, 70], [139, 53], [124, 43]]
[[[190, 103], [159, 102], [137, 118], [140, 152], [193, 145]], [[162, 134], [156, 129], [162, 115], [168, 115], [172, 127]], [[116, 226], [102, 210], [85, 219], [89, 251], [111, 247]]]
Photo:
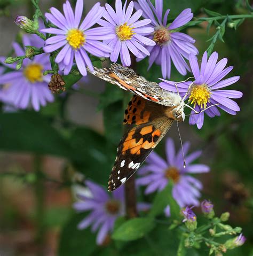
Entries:
[[[88, 71], [91, 72], [89, 69]], [[114, 63], [110, 68], [94, 67], [94, 71], [91, 73], [142, 98], [164, 106], [171, 106], [171, 103], [167, 99], [167, 91], [163, 90], [159, 84], [149, 82], [145, 77], [136, 74], [131, 68]]]

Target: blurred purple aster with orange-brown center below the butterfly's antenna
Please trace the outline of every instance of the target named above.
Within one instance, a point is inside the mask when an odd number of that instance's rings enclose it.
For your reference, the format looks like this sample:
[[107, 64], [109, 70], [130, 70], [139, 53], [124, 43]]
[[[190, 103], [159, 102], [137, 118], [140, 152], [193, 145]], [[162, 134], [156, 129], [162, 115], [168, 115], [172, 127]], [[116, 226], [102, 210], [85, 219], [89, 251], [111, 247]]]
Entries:
[[209, 167], [203, 164], [192, 164], [195, 159], [200, 157], [201, 151], [195, 151], [187, 156], [189, 143], [185, 143], [183, 148], [186, 154], [186, 168], [183, 167], [184, 160], [181, 150], [176, 153], [173, 140], [168, 138], [166, 141], [167, 161], [152, 152], [146, 160], [147, 165], [140, 168], [138, 172], [143, 177], [137, 179], [137, 184], [146, 185], [145, 193], [149, 194], [163, 190], [171, 180], [173, 182], [172, 196], [178, 205], [180, 207], [197, 206], [199, 205], [198, 198], [201, 196], [199, 190], [202, 189], [202, 184], [189, 174], [207, 173]]

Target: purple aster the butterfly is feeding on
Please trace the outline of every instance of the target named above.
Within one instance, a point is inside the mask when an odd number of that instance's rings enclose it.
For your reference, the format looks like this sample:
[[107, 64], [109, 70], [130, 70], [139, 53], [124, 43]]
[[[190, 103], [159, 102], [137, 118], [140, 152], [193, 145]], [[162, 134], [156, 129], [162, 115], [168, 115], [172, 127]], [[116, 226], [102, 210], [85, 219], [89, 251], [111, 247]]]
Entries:
[[[197, 128], [201, 129], [204, 123], [204, 112], [211, 118], [216, 115], [220, 115], [217, 107], [226, 111], [229, 114], [235, 115], [237, 111], [240, 111], [240, 107], [232, 99], [241, 98], [242, 92], [235, 90], [218, 90], [230, 86], [231, 84], [237, 82], [240, 76], [232, 76], [230, 78], [223, 78], [232, 71], [233, 66], [225, 68], [227, 64], [227, 58], [218, 60], [218, 53], [214, 52], [207, 58], [207, 52], [204, 52], [201, 67], [197, 63], [196, 56], [190, 54], [189, 61], [192, 68], [192, 73], [194, 75], [195, 81], [192, 84], [188, 98], [189, 102], [193, 104], [195, 112], [192, 110], [191, 116], [189, 118], [190, 125], [197, 125]], [[225, 69], [224, 69], [225, 68]], [[168, 91], [177, 91], [175, 87], [175, 82], [167, 81], [161, 79], [163, 82], [160, 83], [160, 87]], [[189, 84], [191, 82], [185, 82], [178, 84], [179, 94], [183, 97], [188, 91]], [[219, 104], [217, 106], [212, 106]], [[210, 108], [208, 108], [210, 107]], [[205, 108], [208, 108], [205, 110]], [[201, 112], [196, 114], [196, 112]]]

